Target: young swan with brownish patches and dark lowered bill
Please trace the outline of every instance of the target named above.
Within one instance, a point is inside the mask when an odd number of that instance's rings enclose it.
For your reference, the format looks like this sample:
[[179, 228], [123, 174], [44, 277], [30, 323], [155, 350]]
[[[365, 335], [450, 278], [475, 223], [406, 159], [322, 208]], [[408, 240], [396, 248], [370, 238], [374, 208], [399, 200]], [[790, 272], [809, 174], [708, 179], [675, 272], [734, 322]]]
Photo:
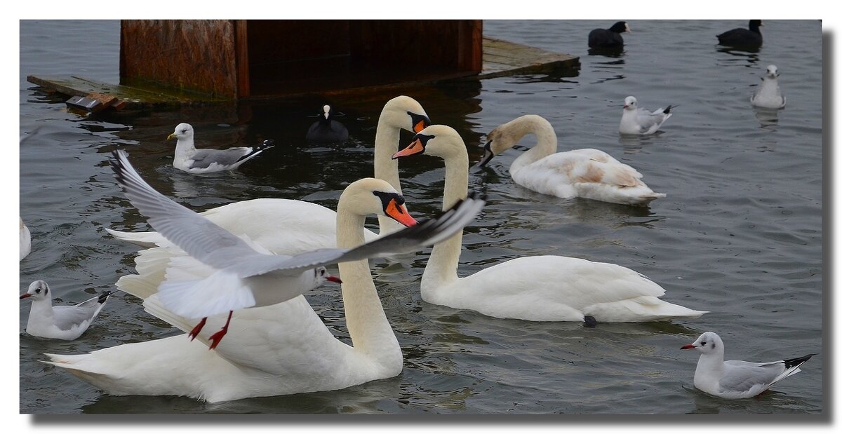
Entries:
[[492, 130], [486, 136], [479, 166], [516, 145], [525, 135], [538, 138], [536, 146], [518, 156], [509, 168], [515, 183], [559, 198], [590, 198], [615, 204], [646, 205], [666, 194], [655, 193], [633, 167], [596, 149], [556, 152], [552, 125], [537, 114], [526, 114]]

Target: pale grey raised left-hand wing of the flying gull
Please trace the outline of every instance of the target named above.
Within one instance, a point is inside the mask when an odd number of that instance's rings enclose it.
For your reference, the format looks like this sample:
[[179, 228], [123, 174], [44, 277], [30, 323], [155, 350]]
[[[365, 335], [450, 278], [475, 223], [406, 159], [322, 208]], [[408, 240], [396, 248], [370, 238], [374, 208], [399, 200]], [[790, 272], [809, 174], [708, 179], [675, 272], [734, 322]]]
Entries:
[[114, 151], [114, 156], [111, 167], [125, 196], [159, 234], [189, 256], [220, 269], [231, 265], [232, 258], [258, 261], [259, 257], [274, 257], [254, 251], [231, 232], [158, 193], [131, 167], [125, 151]]

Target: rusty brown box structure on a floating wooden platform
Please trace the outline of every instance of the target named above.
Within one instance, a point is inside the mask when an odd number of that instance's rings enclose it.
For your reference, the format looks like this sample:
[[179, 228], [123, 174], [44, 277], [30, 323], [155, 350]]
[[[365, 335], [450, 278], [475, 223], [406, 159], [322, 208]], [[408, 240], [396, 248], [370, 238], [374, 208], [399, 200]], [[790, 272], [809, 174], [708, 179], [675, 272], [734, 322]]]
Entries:
[[575, 56], [483, 37], [482, 20], [123, 20], [120, 85], [28, 80], [96, 111], [578, 67]]

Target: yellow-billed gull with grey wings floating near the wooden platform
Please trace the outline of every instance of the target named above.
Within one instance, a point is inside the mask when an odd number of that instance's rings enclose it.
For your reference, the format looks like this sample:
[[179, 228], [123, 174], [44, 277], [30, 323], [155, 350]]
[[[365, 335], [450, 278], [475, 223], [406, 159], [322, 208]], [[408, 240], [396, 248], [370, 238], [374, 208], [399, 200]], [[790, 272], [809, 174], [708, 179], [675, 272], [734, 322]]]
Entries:
[[258, 146], [228, 149], [196, 149], [193, 144], [193, 127], [179, 124], [167, 140], [178, 139], [175, 144], [173, 167], [190, 173], [208, 173], [234, 170], [272, 146], [274, 140], [264, 140]]

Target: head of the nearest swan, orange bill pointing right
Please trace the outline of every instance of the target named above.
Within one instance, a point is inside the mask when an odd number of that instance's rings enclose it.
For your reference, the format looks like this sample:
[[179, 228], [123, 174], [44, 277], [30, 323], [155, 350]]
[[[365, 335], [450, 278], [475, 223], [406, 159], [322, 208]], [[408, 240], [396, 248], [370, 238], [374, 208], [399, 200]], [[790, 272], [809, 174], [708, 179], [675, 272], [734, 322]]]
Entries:
[[381, 179], [365, 177], [350, 183], [339, 197], [337, 208], [357, 215], [386, 215], [404, 226], [414, 226], [406, 201], [392, 184]]

